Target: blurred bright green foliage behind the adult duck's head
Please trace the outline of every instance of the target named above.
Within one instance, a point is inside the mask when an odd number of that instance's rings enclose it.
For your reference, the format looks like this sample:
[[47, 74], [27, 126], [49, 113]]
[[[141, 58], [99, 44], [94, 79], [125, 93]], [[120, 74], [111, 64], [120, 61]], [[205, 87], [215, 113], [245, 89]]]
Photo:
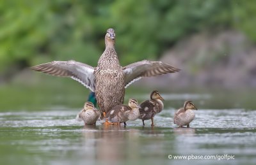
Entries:
[[0, 74], [52, 60], [97, 65], [106, 29], [116, 31], [122, 65], [157, 59], [198, 31], [238, 29], [256, 41], [255, 1], [2, 1]]

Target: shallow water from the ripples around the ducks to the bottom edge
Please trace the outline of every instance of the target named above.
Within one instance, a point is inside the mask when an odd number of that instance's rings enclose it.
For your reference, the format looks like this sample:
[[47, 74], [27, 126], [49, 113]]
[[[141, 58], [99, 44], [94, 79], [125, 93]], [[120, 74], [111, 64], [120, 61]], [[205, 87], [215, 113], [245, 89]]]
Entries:
[[[256, 110], [196, 111], [190, 128], [173, 124], [173, 108], [127, 126], [83, 126], [77, 109], [0, 113], [0, 164], [255, 164]], [[234, 155], [234, 159], [225, 160]], [[168, 159], [172, 155], [172, 159]], [[187, 155], [186, 159], [174, 159]], [[205, 159], [195, 160], [202, 155]], [[211, 160], [211, 155], [216, 156]], [[193, 158], [194, 156], [194, 158]], [[221, 156], [223, 159], [221, 159]], [[220, 159], [220, 160], [218, 160]]]

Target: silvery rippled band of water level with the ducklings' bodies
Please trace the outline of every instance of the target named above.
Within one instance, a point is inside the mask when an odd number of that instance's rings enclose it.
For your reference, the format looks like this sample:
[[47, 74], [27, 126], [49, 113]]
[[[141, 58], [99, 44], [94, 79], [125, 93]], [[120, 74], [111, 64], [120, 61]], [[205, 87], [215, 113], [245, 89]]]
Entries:
[[[175, 110], [163, 110], [154, 117], [157, 127], [176, 127], [173, 124]], [[195, 128], [250, 128], [256, 127], [256, 111], [243, 109], [198, 110], [190, 126]], [[4, 112], [0, 113], [1, 127], [47, 127], [47, 126], [83, 126], [74, 118], [76, 111], [40, 111], [40, 112]], [[140, 127], [141, 120], [127, 122], [128, 126]], [[100, 122], [97, 122], [100, 125]], [[145, 121], [146, 127], [150, 120]]]

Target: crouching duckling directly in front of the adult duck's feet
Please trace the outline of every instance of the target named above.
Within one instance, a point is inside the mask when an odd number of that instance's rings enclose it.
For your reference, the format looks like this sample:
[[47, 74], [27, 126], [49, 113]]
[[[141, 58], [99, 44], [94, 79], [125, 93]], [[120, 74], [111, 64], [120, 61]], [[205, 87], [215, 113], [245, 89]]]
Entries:
[[107, 114], [106, 114], [106, 122], [109, 124], [120, 124], [124, 122], [124, 125], [126, 126], [126, 123], [128, 120], [136, 120], [140, 116], [140, 106], [138, 104], [138, 101], [136, 99], [129, 99], [128, 106], [127, 105], [118, 105], [112, 108]]

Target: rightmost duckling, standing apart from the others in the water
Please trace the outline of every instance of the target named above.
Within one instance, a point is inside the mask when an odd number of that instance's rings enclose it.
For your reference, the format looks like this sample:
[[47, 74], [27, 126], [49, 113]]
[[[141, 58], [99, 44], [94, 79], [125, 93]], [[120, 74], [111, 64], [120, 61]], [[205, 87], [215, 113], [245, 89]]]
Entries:
[[193, 110], [197, 110], [197, 108], [192, 101], [185, 101], [184, 107], [177, 110], [174, 114], [174, 124], [177, 124], [179, 127], [189, 127], [189, 123], [195, 118], [195, 112]]

